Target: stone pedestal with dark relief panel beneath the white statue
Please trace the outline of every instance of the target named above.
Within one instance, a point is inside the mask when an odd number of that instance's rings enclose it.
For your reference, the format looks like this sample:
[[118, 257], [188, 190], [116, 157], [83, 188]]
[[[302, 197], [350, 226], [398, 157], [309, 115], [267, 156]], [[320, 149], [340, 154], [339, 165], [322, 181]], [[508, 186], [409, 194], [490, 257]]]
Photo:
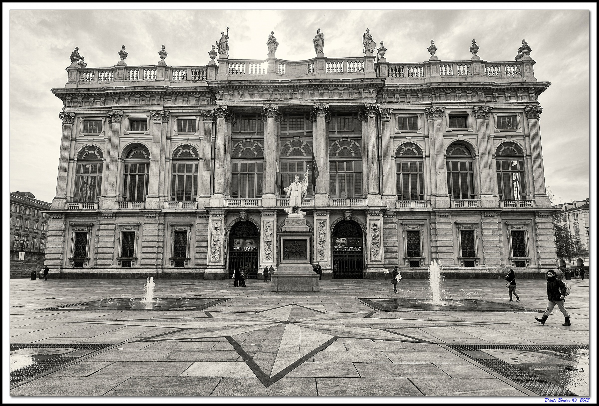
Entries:
[[320, 292], [318, 274], [310, 264], [310, 229], [301, 214], [289, 214], [277, 233], [281, 262], [272, 275], [271, 292]]

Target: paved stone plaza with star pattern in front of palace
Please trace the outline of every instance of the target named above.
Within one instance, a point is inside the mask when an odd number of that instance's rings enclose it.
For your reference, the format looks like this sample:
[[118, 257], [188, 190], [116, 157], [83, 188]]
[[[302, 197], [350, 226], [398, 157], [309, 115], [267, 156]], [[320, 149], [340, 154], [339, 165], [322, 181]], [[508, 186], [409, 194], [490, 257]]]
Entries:
[[[515, 303], [503, 280], [449, 279], [446, 310], [401, 306], [424, 298], [423, 279], [395, 294], [385, 280], [322, 280], [319, 295], [160, 279], [160, 301], [135, 310], [144, 283], [10, 280], [10, 395], [589, 394], [588, 280], [568, 281], [569, 327], [557, 309], [534, 319], [544, 280], [518, 280]], [[460, 297], [478, 310], [459, 311]]]

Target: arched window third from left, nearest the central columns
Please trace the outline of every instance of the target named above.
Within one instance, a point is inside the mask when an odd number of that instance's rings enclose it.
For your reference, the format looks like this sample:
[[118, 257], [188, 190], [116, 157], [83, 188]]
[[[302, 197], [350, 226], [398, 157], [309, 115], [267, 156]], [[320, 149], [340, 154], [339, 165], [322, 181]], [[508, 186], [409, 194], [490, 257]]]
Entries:
[[182, 145], [173, 153], [171, 199], [193, 201], [198, 196], [198, 151]]

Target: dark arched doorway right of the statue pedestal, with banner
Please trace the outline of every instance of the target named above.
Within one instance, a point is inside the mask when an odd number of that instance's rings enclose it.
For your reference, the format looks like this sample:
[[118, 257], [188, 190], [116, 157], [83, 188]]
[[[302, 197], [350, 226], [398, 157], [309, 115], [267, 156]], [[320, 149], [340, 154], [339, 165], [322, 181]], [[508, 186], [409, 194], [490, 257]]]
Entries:
[[362, 278], [364, 238], [353, 220], [341, 220], [333, 228], [333, 278]]

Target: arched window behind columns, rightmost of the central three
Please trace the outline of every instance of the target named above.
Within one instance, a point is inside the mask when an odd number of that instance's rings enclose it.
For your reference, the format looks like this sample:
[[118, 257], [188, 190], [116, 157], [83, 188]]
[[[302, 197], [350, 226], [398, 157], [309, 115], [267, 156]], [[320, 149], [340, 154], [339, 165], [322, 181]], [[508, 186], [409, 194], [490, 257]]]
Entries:
[[352, 140], [339, 140], [329, 149], [331, 196], [353, 198], [362, 196], [362, 151]]

